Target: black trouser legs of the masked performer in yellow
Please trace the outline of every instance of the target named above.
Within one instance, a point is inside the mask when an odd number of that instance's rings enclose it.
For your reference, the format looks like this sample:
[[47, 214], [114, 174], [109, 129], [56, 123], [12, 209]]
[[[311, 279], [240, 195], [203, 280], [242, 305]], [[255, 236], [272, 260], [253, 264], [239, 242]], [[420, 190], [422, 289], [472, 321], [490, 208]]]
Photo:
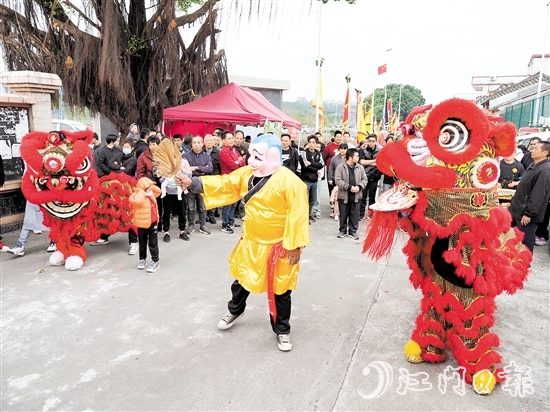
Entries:
[[[269, 315], [269, 321], [271, 322], [271, 328], [277, 335], [284, 335], [290, 333], [290, 309], [291, 290], [287, 290], [282, 295], [275, 295], [275, 305], [277, 306], [277, 322], [273, 322], [271, 315]], [[246, 299], [250, 292], [243, 288], [239, 281], [233, 282], [231, 285], [232, 299], [228, 302], [227, 308], [233, 315], [240, 315], [246, 308]]]

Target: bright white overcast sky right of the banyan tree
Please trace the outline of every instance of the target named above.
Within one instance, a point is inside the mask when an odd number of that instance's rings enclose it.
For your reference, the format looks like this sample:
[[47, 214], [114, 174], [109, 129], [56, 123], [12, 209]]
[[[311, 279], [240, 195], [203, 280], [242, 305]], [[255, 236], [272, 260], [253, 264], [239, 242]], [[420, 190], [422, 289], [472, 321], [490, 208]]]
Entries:
[[[261, 0], [263, 7], [270, 0]], [[268, 23], [255, 15], [222, 24], [230, 74], [289, 80], [284, 100], [312, 99], [316, 88], [319, 5], [277, 0]], [[429, 103], [472, 93], [472, 76], [527, 74], [542, 53], [548, 0], [357, 0], [322, 6], [324, 98], [343, 100], [351, 88], [383, 86], [377, 67], [387, 60], [388, 83], [420, 89]], [[231, 7], [226, 7], [226, 11]], [[231, 9], [233, 10], [233, 9]], [[234, 11], [232, 11], [235, 14]], [[234, 24], [238, 21], [238, 24]], [[223, 18], [222, 18], [223, 23]], [[548, 33], [550, 35], [550, 32]], [[392, 51], [383, 54], [387, 49]], [[546, 42], [550, 52], [550, 41]], [[382, 56], [380, 56], [382, 54]], [[378, 57], [377, 57], [378, 56]]]

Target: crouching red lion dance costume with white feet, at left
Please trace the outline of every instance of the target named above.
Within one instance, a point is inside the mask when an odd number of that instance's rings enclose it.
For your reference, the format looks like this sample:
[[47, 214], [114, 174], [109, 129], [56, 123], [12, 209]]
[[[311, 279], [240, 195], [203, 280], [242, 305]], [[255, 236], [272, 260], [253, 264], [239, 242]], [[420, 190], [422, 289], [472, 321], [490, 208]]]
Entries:
[[135, 179], [123, 173], [98, 179], [88, 146], [92, 138], [90, 130], [32, 132], [21, 143], [26, 165], [21, 189], [29, 202], [41, 206], [57, 244], [50, 264], [65, 264], [68, 270], [84, 264], [84, 242], [133, 227], [128, 199]]

